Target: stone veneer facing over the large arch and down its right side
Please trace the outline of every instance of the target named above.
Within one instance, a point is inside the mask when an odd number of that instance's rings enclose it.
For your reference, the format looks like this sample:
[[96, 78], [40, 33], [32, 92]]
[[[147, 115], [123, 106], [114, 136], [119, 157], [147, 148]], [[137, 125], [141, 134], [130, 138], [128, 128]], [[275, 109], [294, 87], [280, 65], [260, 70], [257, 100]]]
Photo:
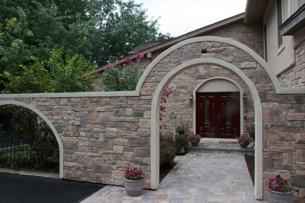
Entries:
[[[201, 50], [207, 49], [206, 54]], [[190, 59], [212, 57], [230, 62], [240, 68], [253, 82], [263, 108], [263, 185], [276, 175], [300, 188], [296, 202], [305, 199], [305, 136], [304, 94], [276, 94], [266, 71], [246, 52], [232, 45], [218, 42], [192, 43], [165, 56], [149, 73], [142, 90], [151, 91], [171, 69]], [[178, 63], [178, 64], [177, 64]], [[256, 135], [257, 136], [257, 135]]]

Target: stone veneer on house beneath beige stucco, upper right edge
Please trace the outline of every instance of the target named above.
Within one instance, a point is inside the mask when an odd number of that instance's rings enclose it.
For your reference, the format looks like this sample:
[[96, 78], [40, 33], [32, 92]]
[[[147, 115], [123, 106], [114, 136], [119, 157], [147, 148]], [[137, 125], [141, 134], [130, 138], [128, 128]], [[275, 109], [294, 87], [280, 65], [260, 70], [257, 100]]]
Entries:
[[296, 49], [296, 65], [278, 76], [282, 87], [305, 87], [305, 41]]

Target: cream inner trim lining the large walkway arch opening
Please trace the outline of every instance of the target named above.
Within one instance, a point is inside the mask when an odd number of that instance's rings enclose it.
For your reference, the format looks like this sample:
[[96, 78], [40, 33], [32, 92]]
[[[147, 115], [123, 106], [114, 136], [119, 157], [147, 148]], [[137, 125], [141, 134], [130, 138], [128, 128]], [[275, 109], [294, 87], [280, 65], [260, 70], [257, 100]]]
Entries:
[[[156, 60], [156, 59], [155, 59]], [[155, 61], [154, 61], [155, 62]], [[218, 66], [235, 73], [248, 87], [250, 94], [254, 102], [254, 114], [255, 114], [255, 129], [257, 136], [255, 139], [255, 180], [254, 180], [254, 194], [257, 199], [263, 198], [263, 109], [260, 102], [258, 91], [253, 82], [247, 77], [247, 75], [239, 69], [237, 66], [226, 62], [221, 59], [215, 58], [198, 58], [192, 59], [182, 64], [179, 64], [170, 72], [168, 72], [160, 81], [156, 88], [155, 94], [152, 98], [151, 106], [151, 183], [150, 187], [156, 189], [159, 185], [159, 105], [160, 99], [164, 88], [167, 84], [182, 71], [195, 67], [195, 66]]]

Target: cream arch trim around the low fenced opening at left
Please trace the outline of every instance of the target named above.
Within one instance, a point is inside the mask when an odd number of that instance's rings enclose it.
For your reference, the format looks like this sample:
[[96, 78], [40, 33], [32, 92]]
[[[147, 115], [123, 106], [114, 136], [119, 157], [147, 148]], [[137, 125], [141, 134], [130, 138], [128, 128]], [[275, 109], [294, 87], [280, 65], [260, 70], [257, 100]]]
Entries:
[[24, 102], [18, 102], [15, 100], [6, 100], [3, 102], [0, 102], [0, 107], [3, 108], [8, 105], [18, 105], [18, 106], [23, 106], [27, 109], [32, 110], [33, 112], [37, 113], [38, 116], [40, 116], [46, 123], [47, 125], [51, 128], [52, 132], [54, 133], [58, 146], [59, 146], [59, 177], [63, 178], [63, 143], [60, 140], [59, 134], [57, 133], [55, 127], [51, 123], [51, 121], [43, 114], [41, 113], [38, 109], [34, 108], [31, 105], [28, 105]]

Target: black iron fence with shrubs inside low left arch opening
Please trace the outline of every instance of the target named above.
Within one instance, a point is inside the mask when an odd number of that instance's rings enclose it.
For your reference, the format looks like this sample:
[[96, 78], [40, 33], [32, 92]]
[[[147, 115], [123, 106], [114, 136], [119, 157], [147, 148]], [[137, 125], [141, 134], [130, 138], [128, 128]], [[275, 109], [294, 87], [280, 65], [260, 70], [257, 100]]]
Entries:
[[59, 147], [36, 113], [11, 105], [0, 110], [0, 167], [59, 173]]

